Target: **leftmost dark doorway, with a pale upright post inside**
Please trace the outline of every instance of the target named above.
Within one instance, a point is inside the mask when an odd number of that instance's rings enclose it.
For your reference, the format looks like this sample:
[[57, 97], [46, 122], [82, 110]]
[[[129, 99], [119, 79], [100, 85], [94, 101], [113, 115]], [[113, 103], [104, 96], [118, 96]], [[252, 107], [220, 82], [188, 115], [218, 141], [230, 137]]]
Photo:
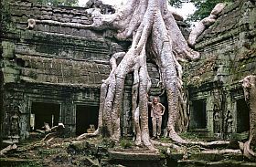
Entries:
[[50, 127], [59, 123], [60, 104], [32, 102], [31, 113], [35, 114], [35, 130], [40, 130], [44, 122]]

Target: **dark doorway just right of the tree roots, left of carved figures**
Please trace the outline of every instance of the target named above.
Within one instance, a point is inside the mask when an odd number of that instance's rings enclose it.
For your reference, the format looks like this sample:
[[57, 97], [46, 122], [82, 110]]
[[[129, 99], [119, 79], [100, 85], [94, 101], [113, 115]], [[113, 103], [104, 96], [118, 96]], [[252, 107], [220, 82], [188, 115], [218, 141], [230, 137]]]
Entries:
[[207, 128], [207, 103], [205, 99], [197, 99], [192, 101], [192, 112], [189, 123], [190, 129], [206, 129]]

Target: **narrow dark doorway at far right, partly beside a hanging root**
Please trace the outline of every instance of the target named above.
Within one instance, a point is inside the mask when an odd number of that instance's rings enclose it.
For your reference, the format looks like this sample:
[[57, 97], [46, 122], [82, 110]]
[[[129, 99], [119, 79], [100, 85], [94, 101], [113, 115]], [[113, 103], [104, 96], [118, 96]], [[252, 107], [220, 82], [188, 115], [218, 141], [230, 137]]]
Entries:
[[237, 100], [237, 132], [250, 130], [250, 111], [245, 99]]

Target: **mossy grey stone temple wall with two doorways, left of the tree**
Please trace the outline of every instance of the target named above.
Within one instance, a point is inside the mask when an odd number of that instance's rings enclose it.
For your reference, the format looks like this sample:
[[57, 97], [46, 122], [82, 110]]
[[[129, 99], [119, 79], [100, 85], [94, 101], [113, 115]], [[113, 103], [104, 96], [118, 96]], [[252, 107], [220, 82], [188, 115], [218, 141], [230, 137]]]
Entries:
[[[91, 24], [86, 8], [3, 1], [1, 37], [1, 134], [26, 138], [28, 131], [63, 122], [67, 131], [97, 128], [101, 80], [110, 56], [126, 50], [112, 31], [61, 26], [42, 20]], [[104, 5], [103, 12], [113, 12]], [[28, 19], [37, 20], [27, 28]], [[16, 117], [18, 119], [16, 119]], [[16, 130], [18, 129], [18, 130]]]

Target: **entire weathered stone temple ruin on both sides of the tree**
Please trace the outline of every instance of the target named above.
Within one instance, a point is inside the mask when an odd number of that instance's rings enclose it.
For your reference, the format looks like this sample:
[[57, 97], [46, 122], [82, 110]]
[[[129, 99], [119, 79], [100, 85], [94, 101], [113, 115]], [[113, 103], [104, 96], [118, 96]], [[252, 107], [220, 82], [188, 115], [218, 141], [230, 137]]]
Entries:
[[[62, 122], [65, 134], [71, 136], [86, 132], [91, 124], [97, 128], [101, 80], [110, 73], [109, 59], [117, 51], [127, 51], [131, 43], [118, 42], [111, 29], [83, 28], [92, 23], [86, 11], [90, 7], [3, 1], [2, 141], [24, 140], [44, 122], [50, 126]], [[110, 5], [100, 7], [102, 14], [115, 12]], [[240, 80], [256, 72], [255, 17], [255, 2], [236, 1], [197, 38], [195, 48], [202, 55], [200, 60], [182, 64], [190, 116], [188, 131], [206, 138], [248, 138], [249, 109]], [[187, 24], [177, 23], [187, 37]], [[153, 83], [150, 96], [163, 94], [158, 69], [153, 63], [148, 68]], [[132, 80], [128, 75], [125, 82], [121, 120], [124, 138], [133, 136]], [[160, 98], [165, 104], [165, 93]]]

